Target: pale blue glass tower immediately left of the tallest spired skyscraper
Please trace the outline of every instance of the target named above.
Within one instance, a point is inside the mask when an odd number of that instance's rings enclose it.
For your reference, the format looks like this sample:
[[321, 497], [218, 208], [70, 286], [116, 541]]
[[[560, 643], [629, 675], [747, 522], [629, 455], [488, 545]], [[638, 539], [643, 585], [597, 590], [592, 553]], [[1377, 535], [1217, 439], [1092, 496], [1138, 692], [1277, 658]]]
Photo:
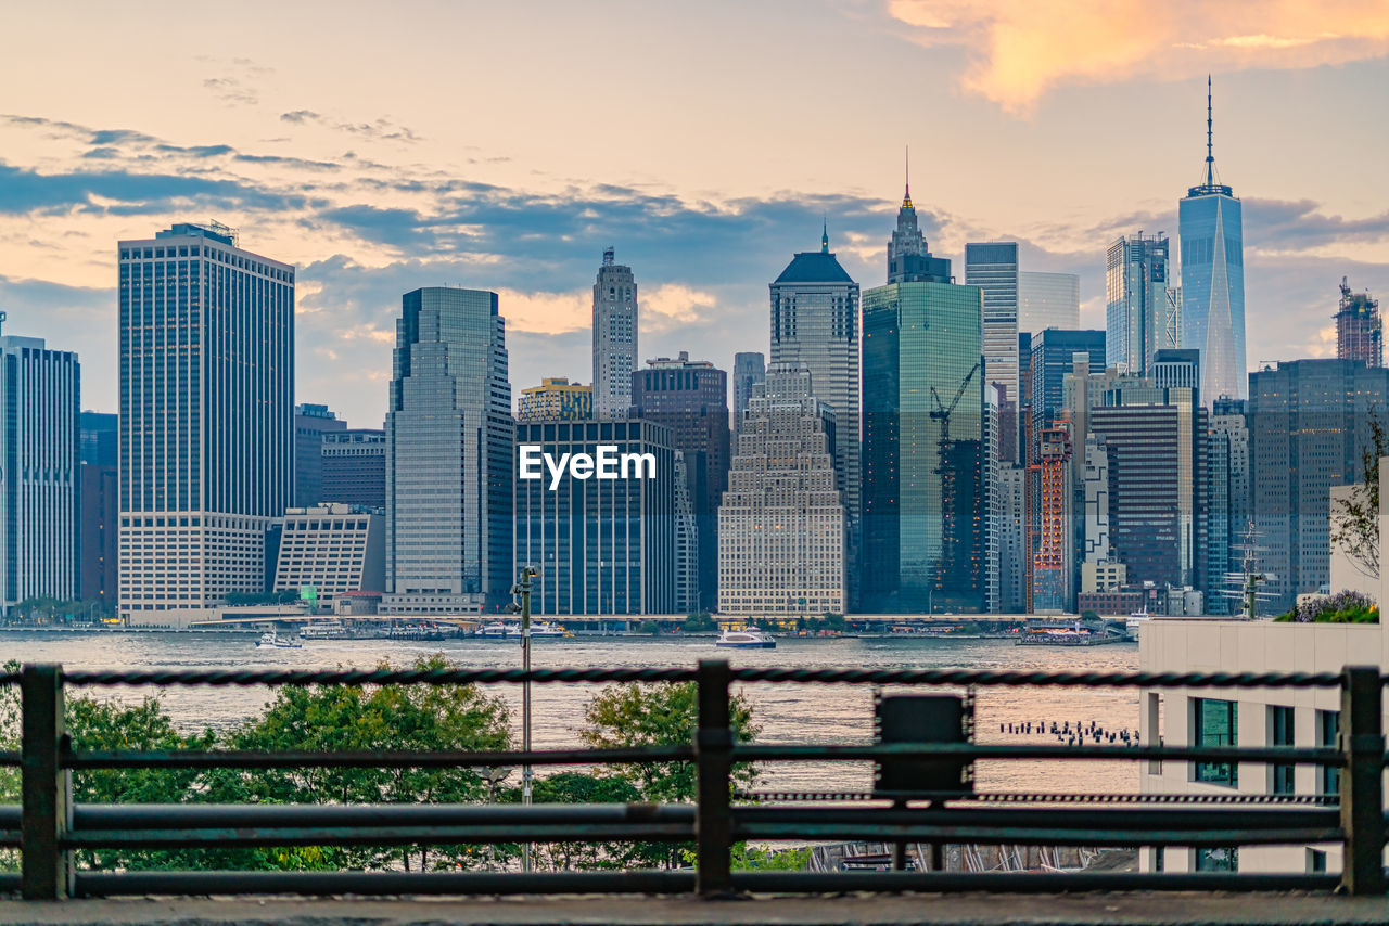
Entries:
[[1181, 290], [1168, 282], [1168, 240], [1125, 235], [1110, 244], [1104, 294], [1104, 362], [1121, 373], [1145, 376], [1160, 350], [1181, 347]]

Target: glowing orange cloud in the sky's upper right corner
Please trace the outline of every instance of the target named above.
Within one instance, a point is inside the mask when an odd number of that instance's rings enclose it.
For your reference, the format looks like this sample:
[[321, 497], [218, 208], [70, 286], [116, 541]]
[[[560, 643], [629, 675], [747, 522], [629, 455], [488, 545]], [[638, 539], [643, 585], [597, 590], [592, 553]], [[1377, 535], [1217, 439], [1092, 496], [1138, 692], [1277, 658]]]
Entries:
[[1311, 68], [1389, 53], [1382, 0], [889, 0], [924, 46], [965, 50], [961, 85], [1026, 112], [1063, 85]]

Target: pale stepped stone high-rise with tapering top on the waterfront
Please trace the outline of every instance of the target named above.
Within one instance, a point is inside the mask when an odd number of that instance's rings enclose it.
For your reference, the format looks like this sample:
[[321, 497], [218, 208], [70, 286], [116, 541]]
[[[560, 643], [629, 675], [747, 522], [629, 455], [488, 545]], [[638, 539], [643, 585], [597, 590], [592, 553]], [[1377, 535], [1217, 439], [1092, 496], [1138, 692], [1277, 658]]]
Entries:
[[718, 510], [718, 611], [757, 618], [843, 614], [845, 505], [835, 412], [804, 367], [772, 362], [753, 387]]

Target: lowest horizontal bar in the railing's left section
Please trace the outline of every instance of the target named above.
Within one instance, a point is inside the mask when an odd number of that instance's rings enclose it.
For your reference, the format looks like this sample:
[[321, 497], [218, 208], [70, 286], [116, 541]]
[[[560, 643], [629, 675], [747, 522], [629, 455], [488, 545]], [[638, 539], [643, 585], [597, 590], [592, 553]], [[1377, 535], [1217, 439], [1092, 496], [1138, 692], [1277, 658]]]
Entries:
[[[78, 897], [190, 894], [681, 894], [694, 872], [78, 872]], [[804, 890], [804, 889], [801, 889]]]

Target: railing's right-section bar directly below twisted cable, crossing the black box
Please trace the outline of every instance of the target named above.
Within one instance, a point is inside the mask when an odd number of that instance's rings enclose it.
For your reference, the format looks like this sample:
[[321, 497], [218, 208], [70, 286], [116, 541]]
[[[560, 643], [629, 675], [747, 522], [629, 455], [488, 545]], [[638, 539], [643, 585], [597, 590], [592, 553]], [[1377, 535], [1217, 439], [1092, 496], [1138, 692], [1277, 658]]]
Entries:
[[876, 758], [960, 758], [960, 759], [1171, 759], [1214, 762], [1265, 762], [1345, 765], [1346, 757], [1333, 748], [1295, 747], [1182, 747], [1182, 746], [1051, 746], [974, 743], [883, 743], [883, 744], [776, 744], [751, 743], [733, 747], [733, 759], [743, 762], [864, 761]]

